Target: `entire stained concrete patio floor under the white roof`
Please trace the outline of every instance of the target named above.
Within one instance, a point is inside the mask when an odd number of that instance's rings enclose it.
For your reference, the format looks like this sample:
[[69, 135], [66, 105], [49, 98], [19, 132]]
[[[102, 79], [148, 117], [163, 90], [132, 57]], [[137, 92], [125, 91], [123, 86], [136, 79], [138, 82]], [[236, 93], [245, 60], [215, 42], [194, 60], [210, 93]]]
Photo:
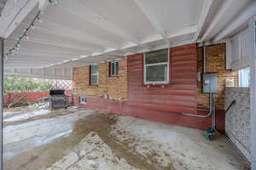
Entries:
[[5, 170], [241, 170], [224, 136], [102, 111], [4, 112]]

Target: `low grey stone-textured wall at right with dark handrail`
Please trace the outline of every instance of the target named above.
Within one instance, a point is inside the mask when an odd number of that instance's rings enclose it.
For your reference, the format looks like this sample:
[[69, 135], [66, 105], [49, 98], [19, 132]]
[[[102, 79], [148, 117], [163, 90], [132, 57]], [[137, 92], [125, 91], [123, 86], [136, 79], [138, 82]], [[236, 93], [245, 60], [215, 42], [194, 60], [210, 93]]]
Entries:
[[236, 147], [250, 161], [250, 94], [249, 88], [226, 88], [225, 108], [236, 99], [236, 105], [226, 114], [225, 129]]

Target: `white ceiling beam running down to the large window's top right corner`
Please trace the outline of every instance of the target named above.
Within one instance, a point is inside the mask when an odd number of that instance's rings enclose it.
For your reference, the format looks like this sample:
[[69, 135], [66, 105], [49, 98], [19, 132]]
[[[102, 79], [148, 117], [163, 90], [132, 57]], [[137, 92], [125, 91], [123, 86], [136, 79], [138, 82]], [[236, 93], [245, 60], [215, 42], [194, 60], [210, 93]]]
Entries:
[[141, 9], [143, 14], [145, 14], [147, 19], [150, 21], [151, 25], [154, 27], [155, 31], [157, 31], [160, 34], [160, 36], [166, 41], [168, 46], [171, 46], [171, 42], [167, 38], [166, 30], [161, 25], [160, 21], [156, 18], [154, 11], [146, 8], [142, 0], [134, 0], [134, 2], [137, 4], [137, 7]]

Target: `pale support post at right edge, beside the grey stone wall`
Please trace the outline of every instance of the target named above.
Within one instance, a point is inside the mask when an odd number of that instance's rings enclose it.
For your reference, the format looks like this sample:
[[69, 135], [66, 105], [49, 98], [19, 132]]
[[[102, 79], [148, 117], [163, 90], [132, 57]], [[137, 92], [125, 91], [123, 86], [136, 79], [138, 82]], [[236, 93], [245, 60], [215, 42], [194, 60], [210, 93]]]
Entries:
[[256, 169], [256, 17], [250, 21], [250, 29], [253, 32], [254, 53], [250, 59], [250, 108], [251, 108], [251, 169]]

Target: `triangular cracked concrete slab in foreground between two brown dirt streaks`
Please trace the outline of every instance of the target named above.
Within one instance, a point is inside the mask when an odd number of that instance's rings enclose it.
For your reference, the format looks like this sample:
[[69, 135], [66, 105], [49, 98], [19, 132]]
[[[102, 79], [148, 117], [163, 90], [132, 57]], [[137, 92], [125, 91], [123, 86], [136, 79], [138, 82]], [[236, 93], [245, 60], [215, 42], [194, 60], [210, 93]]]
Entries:
[[94, 132], [90, 132], [73, 150], [47, 170], [136, 170], [125, 159], [114, 156], [108, 144]]

